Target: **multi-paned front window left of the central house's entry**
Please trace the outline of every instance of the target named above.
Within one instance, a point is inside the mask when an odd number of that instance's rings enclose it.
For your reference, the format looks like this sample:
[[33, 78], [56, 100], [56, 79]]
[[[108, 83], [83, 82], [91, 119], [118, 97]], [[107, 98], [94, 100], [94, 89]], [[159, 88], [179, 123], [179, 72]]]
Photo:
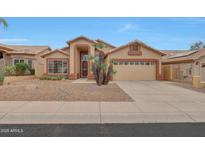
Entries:
[[49, 60], [48, 74], [67, 74], [68, 61], [67, 60]]

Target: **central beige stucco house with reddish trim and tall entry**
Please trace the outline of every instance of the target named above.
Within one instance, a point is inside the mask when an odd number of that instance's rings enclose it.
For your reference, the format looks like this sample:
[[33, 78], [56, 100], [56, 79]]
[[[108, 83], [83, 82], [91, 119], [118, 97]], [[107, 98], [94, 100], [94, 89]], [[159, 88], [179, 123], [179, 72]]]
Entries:
[[[106, 46], [97, 49], [94, 44], [100, 42]], [[154, 49], [143, 42], [132, 41], [126, 45], [115, 47], [102, 40], [91, 40], [80, 36], [67, 41], [68, 46], [45, 53], [43, 70], [40, 74], [64, 75], [69, 79], [78, 78], [94, 79], [91, 62], [87, 55], [95, 56], [104, 52], [106, 60], [114, 61], [114, 80], [160, 80], [161, 58], [163, 52]]]

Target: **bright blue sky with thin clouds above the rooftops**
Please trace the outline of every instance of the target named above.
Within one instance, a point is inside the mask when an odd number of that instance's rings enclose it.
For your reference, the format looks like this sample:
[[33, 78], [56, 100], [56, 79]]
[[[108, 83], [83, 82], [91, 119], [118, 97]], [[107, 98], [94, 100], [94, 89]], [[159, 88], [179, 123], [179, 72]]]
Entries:
[[0, 43], [66, 46], [78, 36], [102, 39], [115, 46], [140, 40], [159, 50], [184, 50], [199, 40], [205, 42], [205, 18], [5, 18]]

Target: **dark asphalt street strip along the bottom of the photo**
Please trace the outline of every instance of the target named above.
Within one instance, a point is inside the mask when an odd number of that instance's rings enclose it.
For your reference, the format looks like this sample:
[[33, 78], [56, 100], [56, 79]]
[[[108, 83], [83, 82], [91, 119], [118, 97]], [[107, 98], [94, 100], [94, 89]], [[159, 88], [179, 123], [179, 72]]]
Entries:
[[1, 137], [204, 137], [205, 123], [1, 124]]

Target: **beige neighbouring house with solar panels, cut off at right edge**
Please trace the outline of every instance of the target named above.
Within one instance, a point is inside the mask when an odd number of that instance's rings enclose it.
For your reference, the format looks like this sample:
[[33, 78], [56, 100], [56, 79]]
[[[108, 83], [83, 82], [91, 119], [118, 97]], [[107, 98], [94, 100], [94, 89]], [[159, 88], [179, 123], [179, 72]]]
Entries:
[[164, 80], [192, 82], [194, 87], [205, 83], [205, 49], [165, 51], [162, 60]]

